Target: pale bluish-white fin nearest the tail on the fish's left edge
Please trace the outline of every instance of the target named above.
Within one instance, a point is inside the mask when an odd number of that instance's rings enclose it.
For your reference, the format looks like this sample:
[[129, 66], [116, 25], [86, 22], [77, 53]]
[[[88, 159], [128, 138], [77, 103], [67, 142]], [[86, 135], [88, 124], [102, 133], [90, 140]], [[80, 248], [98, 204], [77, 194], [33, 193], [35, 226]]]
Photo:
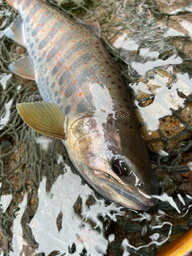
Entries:
[[25, 47], [24, 23], [20, 17], [16, 18], [10, 27], [4, 30], [4, 34], [20, 46]]

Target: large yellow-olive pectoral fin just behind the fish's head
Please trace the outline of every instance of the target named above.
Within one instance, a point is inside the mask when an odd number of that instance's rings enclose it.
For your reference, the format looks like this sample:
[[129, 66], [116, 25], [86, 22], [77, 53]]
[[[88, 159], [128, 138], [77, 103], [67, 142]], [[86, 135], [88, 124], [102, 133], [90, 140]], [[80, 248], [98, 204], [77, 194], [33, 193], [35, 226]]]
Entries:
[[64, 117], [55, 103], [46, 101], [19, 103], [17, 110], [22, 119], [38, 133], [65, 139]]

